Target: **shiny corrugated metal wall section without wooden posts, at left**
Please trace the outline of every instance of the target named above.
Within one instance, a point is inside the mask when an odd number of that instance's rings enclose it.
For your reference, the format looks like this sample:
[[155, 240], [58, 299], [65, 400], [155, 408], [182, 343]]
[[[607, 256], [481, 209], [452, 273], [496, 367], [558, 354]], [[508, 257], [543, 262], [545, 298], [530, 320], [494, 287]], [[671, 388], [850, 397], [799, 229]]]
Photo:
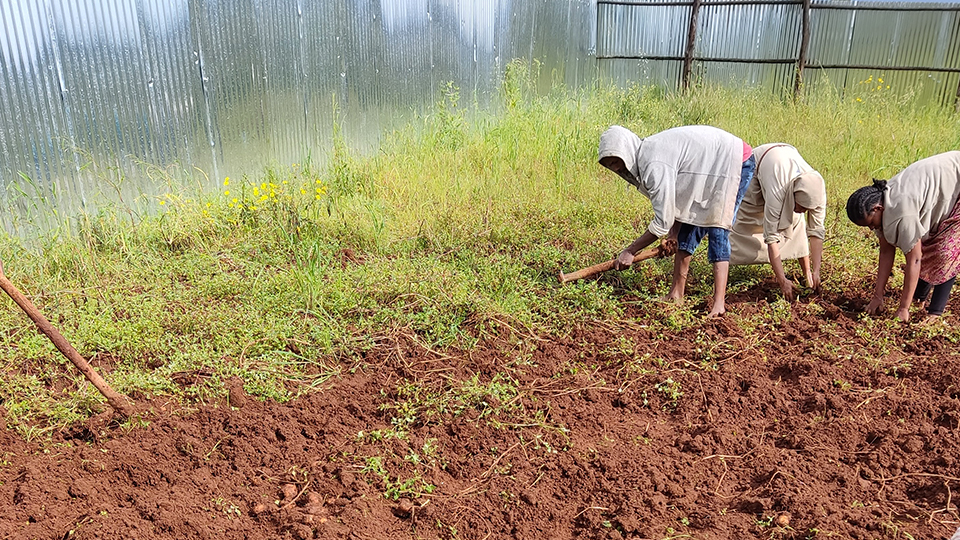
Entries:
[[[0, 219], [359, 151], [442, 97], [487, 107], [506, 65], [596, 78], [579, 0], [0, 0]], [[11, 209], [13, 211], [11, 211]]]

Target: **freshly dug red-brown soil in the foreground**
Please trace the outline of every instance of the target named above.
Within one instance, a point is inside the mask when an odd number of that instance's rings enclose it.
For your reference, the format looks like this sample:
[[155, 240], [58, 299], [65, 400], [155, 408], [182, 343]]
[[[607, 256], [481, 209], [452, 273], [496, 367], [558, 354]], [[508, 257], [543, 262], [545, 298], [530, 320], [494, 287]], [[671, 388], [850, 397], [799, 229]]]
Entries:
[[385, 336], [294, 402], [234, 387], [52, 443], [2, 431], [0, 537], [949, 538], [955, 333], [865, 332], [843, 297], [756, 324], [766, 302], [682, 334], [638, 303], [469, 351]]

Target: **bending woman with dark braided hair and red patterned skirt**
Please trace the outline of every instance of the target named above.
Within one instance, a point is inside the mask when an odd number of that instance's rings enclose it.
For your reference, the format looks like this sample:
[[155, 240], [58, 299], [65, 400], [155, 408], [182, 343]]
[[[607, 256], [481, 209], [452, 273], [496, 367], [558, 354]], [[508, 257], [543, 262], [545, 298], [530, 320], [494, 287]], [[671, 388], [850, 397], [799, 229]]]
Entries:
[[[893, 270], [896, 248], [906, 259], [897, 318], [910, 320], [910, 302], [933, 297], [927, 314], [943, 313], [960, 272], [960, 151], [921, 159], [889, 181], [855, 191], [847, 199], [847, 217], [876, 231], [880, 239], [877, 284], [867, 313], [883, 310], [883, 294]], [[918, 286], [919, 285], [919, 286]]]

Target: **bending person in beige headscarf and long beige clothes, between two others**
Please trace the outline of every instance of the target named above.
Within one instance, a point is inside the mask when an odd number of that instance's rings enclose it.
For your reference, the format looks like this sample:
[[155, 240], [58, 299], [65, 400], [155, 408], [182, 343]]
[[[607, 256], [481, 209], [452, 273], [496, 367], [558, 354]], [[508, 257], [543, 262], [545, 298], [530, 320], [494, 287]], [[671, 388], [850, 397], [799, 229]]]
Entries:
[[783, 271], [785, 260], [799, 259], [807, 286], [820, 289], [826, 186], [820, 173], [789, 144], [758, 146], [753, 157], [757, 171], [730, 233], [730, 264], [770, 263], [783, 297], [792, 302], [793, 283]]

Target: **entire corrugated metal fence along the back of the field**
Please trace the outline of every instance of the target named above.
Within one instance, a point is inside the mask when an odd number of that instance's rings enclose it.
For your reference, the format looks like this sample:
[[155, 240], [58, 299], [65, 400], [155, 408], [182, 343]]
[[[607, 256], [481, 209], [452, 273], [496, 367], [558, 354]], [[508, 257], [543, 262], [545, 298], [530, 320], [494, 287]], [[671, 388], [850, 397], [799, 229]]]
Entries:
[[599, 75], [676, 88], [688, 73], [783, 91], [807, 28], [806, 80], [844, 88], [874, 74], [862, 66], [925, 66], [886, 79], [955, 99], [955, 5], [872, 6], [0, 0], [0, 221], [22, 233], [53, 210], [149, 206], [185, 183], [320, 161], [335, 125], [370, 149], [447, 82], [489, 106], [516, 58], [538, 61], [544, 85]]

